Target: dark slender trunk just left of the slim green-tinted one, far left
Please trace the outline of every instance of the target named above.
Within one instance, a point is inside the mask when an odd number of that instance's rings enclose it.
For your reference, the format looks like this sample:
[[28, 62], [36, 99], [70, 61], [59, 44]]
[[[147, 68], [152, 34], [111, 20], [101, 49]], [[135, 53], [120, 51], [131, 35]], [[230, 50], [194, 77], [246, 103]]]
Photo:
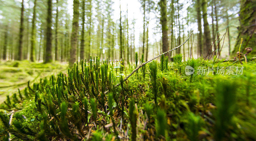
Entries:
[[20, 16], [20, 34], [19, 34], [19, 47], [18, 47], [18, 60], [22, 60], [22, 56], [23, 56], [23, 31], [24, 31], [24, 0], [22, 0], [21, 2], [21, 16]]

